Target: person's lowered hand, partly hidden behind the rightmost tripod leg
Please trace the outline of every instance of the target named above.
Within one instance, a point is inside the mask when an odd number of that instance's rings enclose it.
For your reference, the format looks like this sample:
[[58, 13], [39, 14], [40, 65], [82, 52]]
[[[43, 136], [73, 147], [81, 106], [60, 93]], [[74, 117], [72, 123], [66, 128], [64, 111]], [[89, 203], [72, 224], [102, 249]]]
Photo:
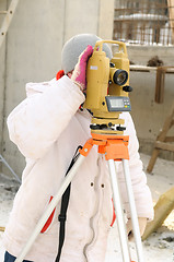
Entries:
[[[138, 223], [140, 228], [140, 236], [142, 236], [147, 226], [147, 217], [138, 217]], [[134, 239], [131, 218], [128, 219], [126, 227], [127, 227], [128, 239], [131, 241]]]

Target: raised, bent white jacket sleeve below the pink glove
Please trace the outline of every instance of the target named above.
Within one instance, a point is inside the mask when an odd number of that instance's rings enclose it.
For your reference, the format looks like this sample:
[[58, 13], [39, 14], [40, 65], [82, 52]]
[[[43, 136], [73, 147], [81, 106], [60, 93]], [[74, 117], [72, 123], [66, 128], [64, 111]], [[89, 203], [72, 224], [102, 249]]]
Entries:
[[32, 159], [40, 158], [68, 126], [85, 97], [68, 76], [23, 100], [8, 117], [11, 141]]

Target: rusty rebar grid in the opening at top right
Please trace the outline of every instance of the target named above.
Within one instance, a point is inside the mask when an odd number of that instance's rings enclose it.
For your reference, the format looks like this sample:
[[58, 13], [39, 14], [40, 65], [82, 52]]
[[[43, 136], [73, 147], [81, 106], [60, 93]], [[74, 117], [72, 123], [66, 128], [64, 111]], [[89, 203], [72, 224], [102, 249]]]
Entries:
[[174, 0], [115, 0], [113, 38], [130, 44], [174, 45]]

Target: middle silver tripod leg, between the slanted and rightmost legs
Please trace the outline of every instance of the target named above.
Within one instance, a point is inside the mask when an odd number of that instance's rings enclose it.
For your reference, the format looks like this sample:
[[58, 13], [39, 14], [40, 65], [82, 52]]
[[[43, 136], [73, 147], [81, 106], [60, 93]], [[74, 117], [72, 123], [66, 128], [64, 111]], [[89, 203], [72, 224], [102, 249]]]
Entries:
[[108, 167], [109, 167], [109, 175], [111, 175], [111, 181], [112, 181], [112, 188], [113, 188], [113, 200], [114, 200], [114, 207], [116, 211], [116, 221], [118, 225], [123, 261], [130, 262], [130, 252], [129, 252], [128, 237], [126, 231], [126, 223], [125, 223], [125, 217], [123, 212], [123, 204], [121, 204], [121, 199], [119, 193], [119, 186], [118, 186], [118, 179], [116, 175], [114, 159], [108, 159]]

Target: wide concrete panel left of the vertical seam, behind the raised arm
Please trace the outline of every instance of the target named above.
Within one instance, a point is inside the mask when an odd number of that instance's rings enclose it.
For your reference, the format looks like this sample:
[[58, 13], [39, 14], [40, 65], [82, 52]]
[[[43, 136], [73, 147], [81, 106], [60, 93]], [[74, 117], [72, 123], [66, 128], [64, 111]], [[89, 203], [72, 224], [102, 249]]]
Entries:
[[[60, 68], [62, 47], [63, 8], [61, 0], [22, 0], [9, 28], [5, 57], [4, 118], [25, 98], [27, 82], [50, 80]], [[3, 64], [3, 62], [2, 62]], [[3, 129], [3, 155], [20, 176], [24, 157], [9, 140], [7, 124]], [[2, 171], [8, 170], [2, 166]]]

